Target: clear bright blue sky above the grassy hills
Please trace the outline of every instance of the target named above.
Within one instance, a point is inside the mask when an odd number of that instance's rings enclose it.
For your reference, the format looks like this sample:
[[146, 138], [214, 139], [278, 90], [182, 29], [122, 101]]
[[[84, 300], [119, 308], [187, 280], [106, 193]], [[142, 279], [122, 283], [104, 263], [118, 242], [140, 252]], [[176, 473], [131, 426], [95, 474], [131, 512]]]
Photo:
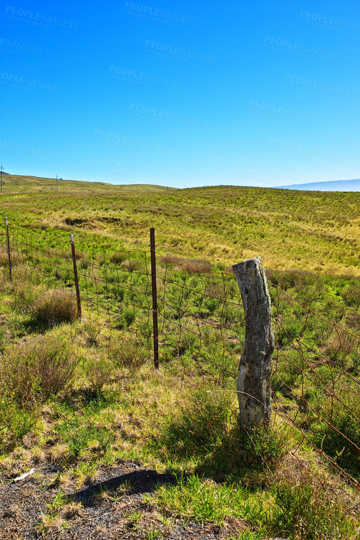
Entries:
[[175, 187], [359, 178], [357, 1], [16, 1], [0, 8], [6, 172]]

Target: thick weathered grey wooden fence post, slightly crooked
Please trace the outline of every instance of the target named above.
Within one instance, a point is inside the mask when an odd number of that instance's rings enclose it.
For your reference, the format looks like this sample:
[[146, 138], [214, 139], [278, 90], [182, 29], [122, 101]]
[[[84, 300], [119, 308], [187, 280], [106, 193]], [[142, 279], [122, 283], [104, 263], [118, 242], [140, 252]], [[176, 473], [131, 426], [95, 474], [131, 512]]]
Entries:
[[268, 426], [271, 414], [270, 374], [274, 350], [270, 295], [261, 258], [233, 266], [245, 314], [245, 339], [237, 377], [237, 399], [243, 428]]

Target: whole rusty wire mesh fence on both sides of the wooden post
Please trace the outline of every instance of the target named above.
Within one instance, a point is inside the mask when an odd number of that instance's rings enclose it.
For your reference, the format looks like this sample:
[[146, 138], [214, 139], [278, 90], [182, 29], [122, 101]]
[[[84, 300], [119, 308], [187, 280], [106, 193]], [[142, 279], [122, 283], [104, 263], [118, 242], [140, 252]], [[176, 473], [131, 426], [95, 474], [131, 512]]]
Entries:
[[[203, 377], [236, 392], [245, 316], [232, 272], [160, 255], [154, 241], [148, 251], [115, 251], [76, 238], [72, 246], [70, 239], [56, 241], [46, 232], [9, 226], [9, 247], [13, 283], [29, 280], [44, 291], [60, 288], [76, 295], [76, 267], [81, 317], [104, 338], [134, 336], [147, 361], [155, 367], [158, 362], [181, 384]], [[4, 227], [0, 265], [10, 279]], [[298, 447], [312, 448], [360, 489], [360, 338], [355, 329], [325, 319], [278, 285], [269, 282], [269, 289], [276, 343], [273, 421], [281, 417], [290, 424]]]

